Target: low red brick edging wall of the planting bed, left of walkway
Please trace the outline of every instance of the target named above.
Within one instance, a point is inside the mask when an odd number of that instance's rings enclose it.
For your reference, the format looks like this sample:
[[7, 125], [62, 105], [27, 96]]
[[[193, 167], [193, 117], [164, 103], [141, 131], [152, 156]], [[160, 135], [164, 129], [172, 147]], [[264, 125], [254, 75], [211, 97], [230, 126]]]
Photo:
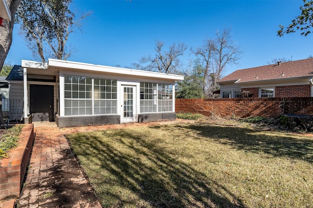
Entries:
[[0, 160], [0, 201], [20, 196], [30, 151], [34, 141], [34, 125], [23, 124], [19, 146]]

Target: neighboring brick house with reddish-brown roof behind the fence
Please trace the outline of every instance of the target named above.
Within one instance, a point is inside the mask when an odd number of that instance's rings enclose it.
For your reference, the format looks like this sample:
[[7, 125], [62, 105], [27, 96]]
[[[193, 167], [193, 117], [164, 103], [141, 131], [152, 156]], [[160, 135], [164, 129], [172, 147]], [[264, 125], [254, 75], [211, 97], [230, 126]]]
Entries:
[[313, 58], [237, 70], [220, 79], [222, 98], [312, 97]]

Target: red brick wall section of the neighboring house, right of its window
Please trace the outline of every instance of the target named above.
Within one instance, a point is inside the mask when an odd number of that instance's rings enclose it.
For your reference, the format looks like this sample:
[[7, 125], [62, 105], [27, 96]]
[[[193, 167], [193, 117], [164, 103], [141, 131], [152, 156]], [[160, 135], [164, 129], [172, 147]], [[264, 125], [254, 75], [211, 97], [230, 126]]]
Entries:
[[310, 97], [310, 96], [311, 96], [311, 86], [309, 84], [275, 87], [275, 97]]

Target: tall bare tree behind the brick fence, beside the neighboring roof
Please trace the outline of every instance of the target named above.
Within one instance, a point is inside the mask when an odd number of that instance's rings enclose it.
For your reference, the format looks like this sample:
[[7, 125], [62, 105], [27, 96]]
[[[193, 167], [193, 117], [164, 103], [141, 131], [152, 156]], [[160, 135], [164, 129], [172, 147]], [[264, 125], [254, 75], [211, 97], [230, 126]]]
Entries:
[[213, 92], [219, 89], [216, 83], [228, 65], [237, 65], [243, 51], [231, 37], [231, 28], [224, 28], [217, 31], [216, 38], [203, 41], [201, 47], [191, 50], [197, 57], [200, 57], [204, 69], [205, 94], [207, 97], [214, 97]]

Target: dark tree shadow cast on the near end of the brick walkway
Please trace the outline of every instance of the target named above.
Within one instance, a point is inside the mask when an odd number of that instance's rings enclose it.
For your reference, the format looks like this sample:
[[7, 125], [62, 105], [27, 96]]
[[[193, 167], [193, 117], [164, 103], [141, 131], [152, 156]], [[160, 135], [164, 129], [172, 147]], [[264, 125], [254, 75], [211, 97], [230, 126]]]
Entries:
[[[22, 189], [19, 201], [20, 207], [81, 207], [97, 206], [94, 190], [80, 171], [77, 161], [69, 149], [60, 152], [62, 158], [56, 161], [47, 161], [51, 167], [41, 168], [38, 178], [32, 179]], [[44, 162], [44, 161], [43, 161]], [[34, 181], [35, 180], [35, 181]], [[27, 193], [30, 194], [28, 195]], [[38, 195], [32, 195], [33, 193]], [[26, 201], [28, 197], [35, 200]]]

